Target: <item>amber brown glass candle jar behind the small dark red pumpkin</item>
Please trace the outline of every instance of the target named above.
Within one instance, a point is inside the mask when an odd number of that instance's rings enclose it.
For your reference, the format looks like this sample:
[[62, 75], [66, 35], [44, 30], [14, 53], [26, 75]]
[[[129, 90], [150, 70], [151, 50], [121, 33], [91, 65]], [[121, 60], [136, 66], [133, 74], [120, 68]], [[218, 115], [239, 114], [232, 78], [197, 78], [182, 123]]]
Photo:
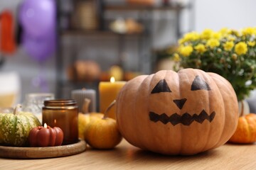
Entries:
[[72, 99], [44, 101], [43, 124], [63, 130], [63, 145], [78, 142], [78, 105]]

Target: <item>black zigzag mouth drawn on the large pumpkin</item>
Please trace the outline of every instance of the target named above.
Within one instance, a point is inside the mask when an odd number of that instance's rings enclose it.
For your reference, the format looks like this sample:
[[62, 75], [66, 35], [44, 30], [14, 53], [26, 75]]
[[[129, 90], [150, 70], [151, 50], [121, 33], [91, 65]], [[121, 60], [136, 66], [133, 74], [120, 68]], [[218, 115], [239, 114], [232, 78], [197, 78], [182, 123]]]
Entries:
[[183, 115], [178, 115], [177, 113], [172, 114], [171, 116], [166, 115], [166, 113], [162, 113], [161, 115], [156, 114], [154, 112], [149, 112], [149, 119], [153, 122], [160, 121], [161, 123], [164, 123], [165, 125], [167, 123], [171, 123], [171, 125], [177, 125], [178, 123], [181, 123], [182, 125], [191, 125], [193, 121], [196, 121], [198, 123], [203, 123], [204, 120], [208, 120], [209, 122], [213, 121], [215, 117], [215, 111], [213, 113], [206, 113], [206, 111], [201, 111], [199, 115], [196, 113], [193, 115], [190, 115], [189, 113], [184, 113]]

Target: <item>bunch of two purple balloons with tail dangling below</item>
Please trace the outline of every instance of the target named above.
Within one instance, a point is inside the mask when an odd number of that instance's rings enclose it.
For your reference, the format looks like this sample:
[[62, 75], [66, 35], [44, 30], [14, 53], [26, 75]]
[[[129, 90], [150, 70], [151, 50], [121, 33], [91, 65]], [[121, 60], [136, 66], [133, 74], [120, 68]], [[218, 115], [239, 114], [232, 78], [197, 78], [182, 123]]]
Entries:
[[54, 0], [24, 0], [18, 19], [23, 28], [21, 44], [31, 57], [38, 62], [38, 77], [31, 84], [42, 92], [48, 92], [45, 63], [56, 50], [56, 10]]

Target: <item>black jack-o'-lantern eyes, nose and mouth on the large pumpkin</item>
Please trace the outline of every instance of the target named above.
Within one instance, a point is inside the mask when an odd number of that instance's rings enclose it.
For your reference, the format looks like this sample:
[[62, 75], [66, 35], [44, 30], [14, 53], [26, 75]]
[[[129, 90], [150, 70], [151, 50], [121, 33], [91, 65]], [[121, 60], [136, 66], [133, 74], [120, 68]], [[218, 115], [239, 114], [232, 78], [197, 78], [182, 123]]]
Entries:
[[[174, 87], [175, 88], [175, 87]], [[193, 91], [210, 91], [209, 84], [204, 81], [200, 76], [196, 76], [193, 81], [191, 82], [190, 86], [190, 93], [193, 93]], [[171, 94], [174, 93], [172, 91], [172, 87], [169, 86], [169, 84], [166, 82], [165, 79], [161, 79], [156, 86], [154, 86], [154, 89], [151, 91], [151, 95], [154, 95], [154, 97], [157, 97], [157, 95], [166, 93]], [[189, 93], [189, 92], [188, 92]], [[186, 104], [189, 105], [188, 98], [172, 98], [175, 95], [169, 96], [169, 101], [166, 104], [169, 104], [169, 102], [173, 102], [171, 110], [180, 110], [178, 113], [172, 113], [171, 115], [168, 115], [168, 113], [155, 113], [154, 111], [149, 111], [149, 119], [153, 122], [160, 121], [161, 123], [167, 124], [171, 123], [171, 125], [177, 125], [178, 123], [181, 123], [182, 125], [191, 125], [193, 121], [196, 121], [197, 123], [203, 123], [203, 121], [208, 120], [211, 122], [215, 118], [215, 111], [212, 111], [211, 113], [207, 113], [203, 108], [201, 109], [200, 113], [188, 113], [184, 112], [182, 113], [183, 106]], [[186, 96], [186, 95], [182, 95]], [[190, 100], [198, 100], [197, 98], [189, 98]], [[202, 101], [199, 101], [202, 102]]]

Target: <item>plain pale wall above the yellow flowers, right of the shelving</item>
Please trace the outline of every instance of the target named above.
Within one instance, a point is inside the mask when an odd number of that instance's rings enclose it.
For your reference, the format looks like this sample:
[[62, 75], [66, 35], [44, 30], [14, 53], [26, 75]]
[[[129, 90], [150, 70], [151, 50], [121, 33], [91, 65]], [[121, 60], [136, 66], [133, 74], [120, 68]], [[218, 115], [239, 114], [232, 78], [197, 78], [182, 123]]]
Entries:
[[195, 0], [195, 30], [256, 26], [255, 0]]

